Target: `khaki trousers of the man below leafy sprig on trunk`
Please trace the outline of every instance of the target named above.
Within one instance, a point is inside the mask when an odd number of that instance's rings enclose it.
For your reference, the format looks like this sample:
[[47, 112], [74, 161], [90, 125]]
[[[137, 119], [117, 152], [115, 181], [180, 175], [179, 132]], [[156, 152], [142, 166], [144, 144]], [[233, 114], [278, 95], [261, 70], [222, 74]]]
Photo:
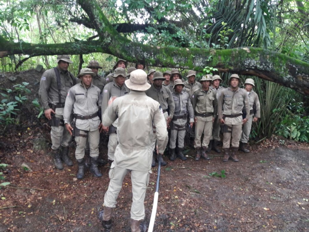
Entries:
[[[212, 120], [206, 121], [206, 118], [197, 116], [197, 122], [195, 124], [194, 148], [201, 147], [201, 145], [203, 147], [208, 148], [208, 144], [209, 144], [211, 133], [212, 133], [212, 127], [213, 127]], [[201, 144], [201, 137], [203, 133], [204, 133], [204, 138]]]

